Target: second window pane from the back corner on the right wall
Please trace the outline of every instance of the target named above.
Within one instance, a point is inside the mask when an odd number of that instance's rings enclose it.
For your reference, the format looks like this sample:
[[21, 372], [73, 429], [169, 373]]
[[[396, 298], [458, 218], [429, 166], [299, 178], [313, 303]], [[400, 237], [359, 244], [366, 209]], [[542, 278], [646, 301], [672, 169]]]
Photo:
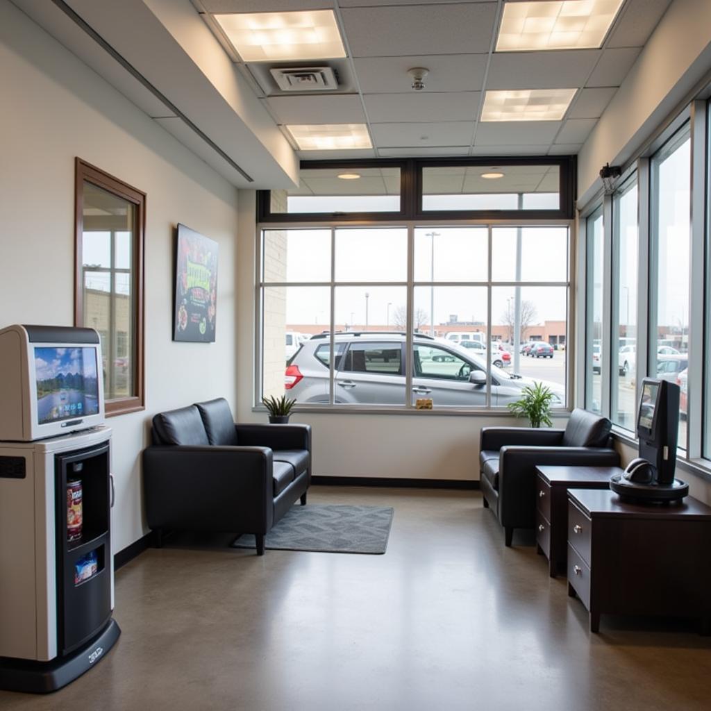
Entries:
[[614, 195], [613, 324], [611, 362], [611, 420], [635, 429], [637, 410], [637, 269], [639, 232], [637, 180], [632, 176]]

